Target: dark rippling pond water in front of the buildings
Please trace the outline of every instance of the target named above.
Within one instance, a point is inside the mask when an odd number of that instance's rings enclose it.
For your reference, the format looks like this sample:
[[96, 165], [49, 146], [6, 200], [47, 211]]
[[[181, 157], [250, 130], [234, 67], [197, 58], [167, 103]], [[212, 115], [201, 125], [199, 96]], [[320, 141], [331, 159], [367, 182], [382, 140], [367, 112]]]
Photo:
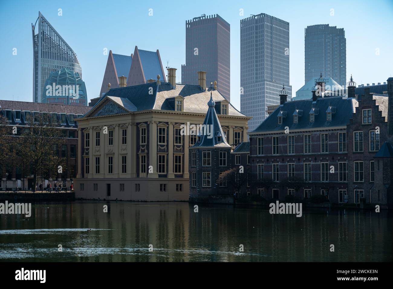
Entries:
[[23, 219], [0, 215], [0, 261], [393, 260], [386, 211], [296, 217], [259, 207], [199, 204], [195, 213], [185, 202], [77, 201], [33, 204]]

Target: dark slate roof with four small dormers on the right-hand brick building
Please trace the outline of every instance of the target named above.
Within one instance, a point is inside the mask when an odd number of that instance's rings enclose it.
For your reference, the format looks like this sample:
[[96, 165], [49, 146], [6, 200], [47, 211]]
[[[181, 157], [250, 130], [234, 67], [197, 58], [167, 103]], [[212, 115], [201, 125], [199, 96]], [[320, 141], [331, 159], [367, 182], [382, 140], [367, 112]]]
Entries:
[[[332, 113], [331, 121], [327, 120], [326, 114], [329, 106], [336, 109], [336, 112]], [[319, 114], [315, 114], [314, 121], [310, 122], [310, 114], [308, 112], [310, 112], [313, 107], [319, 109]], [[343, 126], [349, 123], [349, 120], [353, 117], [355, 107], [358, 107], [358, 101], [356, 99], [343, 99], [341, 96], [318, 98], [315, 102], [313, 102], [312, 99], [288, 101], [277, 107], [266, 120], [250, 133], [284, 131], [286, 126], [289, 127], [290, 130]], [[303, 116], [298, 117], [298, 123], [294, 123], [294, 117], [292, 116], [296, 109], [305, 112]], [[277, 116], [280, 112], [286, 112], [286, 117], [283, 117], [282, 124], [278, 124]], [[283, 115], [285, 115], [285, 113], [283, 113]]]

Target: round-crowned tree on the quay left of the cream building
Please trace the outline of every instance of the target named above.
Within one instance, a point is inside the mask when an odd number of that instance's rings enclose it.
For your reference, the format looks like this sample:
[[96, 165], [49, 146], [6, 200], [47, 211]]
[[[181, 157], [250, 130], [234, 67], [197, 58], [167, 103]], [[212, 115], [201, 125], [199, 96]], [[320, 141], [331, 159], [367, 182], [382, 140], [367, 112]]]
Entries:
[[37, 183], [37, 175], [41, 171], [51, 170], [57, 174], [59, 166], [65, 168], [65, 161], [59, 156], [59, 149], [65, 144], [57, 120], [53, 120], [47, 113], [35, 113], [25, 121], [28, 128], [20, 136], [20, 155], [23, 156], [25, 166], [33, 173], [33, 191]]

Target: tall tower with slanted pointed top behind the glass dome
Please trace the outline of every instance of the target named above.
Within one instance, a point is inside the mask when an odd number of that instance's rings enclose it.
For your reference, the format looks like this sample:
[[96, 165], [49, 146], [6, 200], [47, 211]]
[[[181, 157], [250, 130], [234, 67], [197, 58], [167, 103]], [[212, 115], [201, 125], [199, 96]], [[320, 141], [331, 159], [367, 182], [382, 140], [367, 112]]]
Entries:
[[[38, 13], [33, 32], [33, 101], [43, 102], [45, 82], [51, 72], [66, 68], [82, 77], [82, 68], [71, 47], [62, 39], [45, 17]], [[36, 29], [37, 28], [37, 29]]]

